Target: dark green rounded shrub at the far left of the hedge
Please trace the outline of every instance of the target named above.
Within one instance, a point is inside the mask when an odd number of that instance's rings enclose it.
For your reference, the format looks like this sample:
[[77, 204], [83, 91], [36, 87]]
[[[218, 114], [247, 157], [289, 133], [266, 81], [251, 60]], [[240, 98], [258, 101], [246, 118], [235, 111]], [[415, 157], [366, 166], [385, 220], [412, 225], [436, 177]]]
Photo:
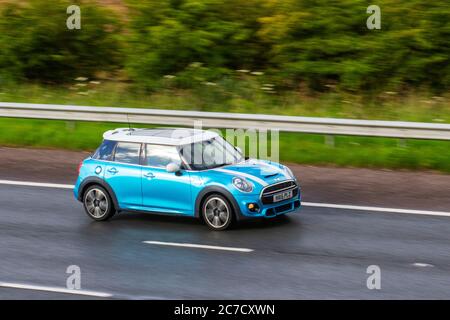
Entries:
[[[69, 30], [68, 6], [81, 8], [81, 29]], [[121, 66], [120, 23], [93, 1], [8, 3], [0, 13], [0, 76], [64, 82]]]

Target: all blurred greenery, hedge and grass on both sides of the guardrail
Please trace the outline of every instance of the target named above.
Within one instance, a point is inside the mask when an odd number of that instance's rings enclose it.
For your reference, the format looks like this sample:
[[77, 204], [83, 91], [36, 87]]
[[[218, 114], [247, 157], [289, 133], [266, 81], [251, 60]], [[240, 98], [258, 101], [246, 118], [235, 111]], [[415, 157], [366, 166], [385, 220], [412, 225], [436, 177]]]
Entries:
[[[445, 0], [0, 0], [0, 101], [449, 123], [449, 39]], [[0, 144], [91, 150], [117, 126], [1, 118]], [[450, 172], [445, 141], [280, 139], [288, 162]]]

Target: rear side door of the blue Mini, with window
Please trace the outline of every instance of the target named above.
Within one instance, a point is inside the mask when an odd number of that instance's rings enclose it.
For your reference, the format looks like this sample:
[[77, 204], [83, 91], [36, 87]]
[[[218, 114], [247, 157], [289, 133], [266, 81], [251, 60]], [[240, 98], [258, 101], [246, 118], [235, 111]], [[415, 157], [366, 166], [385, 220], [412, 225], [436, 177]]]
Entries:
[[141, 209], [141, 144], [118, 142], [104, 179], [111, 186], [121, 209]]

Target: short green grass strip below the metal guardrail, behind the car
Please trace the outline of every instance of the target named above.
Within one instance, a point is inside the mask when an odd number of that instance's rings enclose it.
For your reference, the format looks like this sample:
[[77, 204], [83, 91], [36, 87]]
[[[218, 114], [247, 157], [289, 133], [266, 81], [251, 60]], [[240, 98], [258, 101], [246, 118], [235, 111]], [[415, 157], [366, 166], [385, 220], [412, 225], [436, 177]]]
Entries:
[[[127, 124], [0, 118], [0, 145], [93, 150], [104, 131]], [[143, 127], [143, 126], [140, 126]], [[450, 142], [280, 133], [281, 161], [313, 165], [432, 169], [450, 173]]]

